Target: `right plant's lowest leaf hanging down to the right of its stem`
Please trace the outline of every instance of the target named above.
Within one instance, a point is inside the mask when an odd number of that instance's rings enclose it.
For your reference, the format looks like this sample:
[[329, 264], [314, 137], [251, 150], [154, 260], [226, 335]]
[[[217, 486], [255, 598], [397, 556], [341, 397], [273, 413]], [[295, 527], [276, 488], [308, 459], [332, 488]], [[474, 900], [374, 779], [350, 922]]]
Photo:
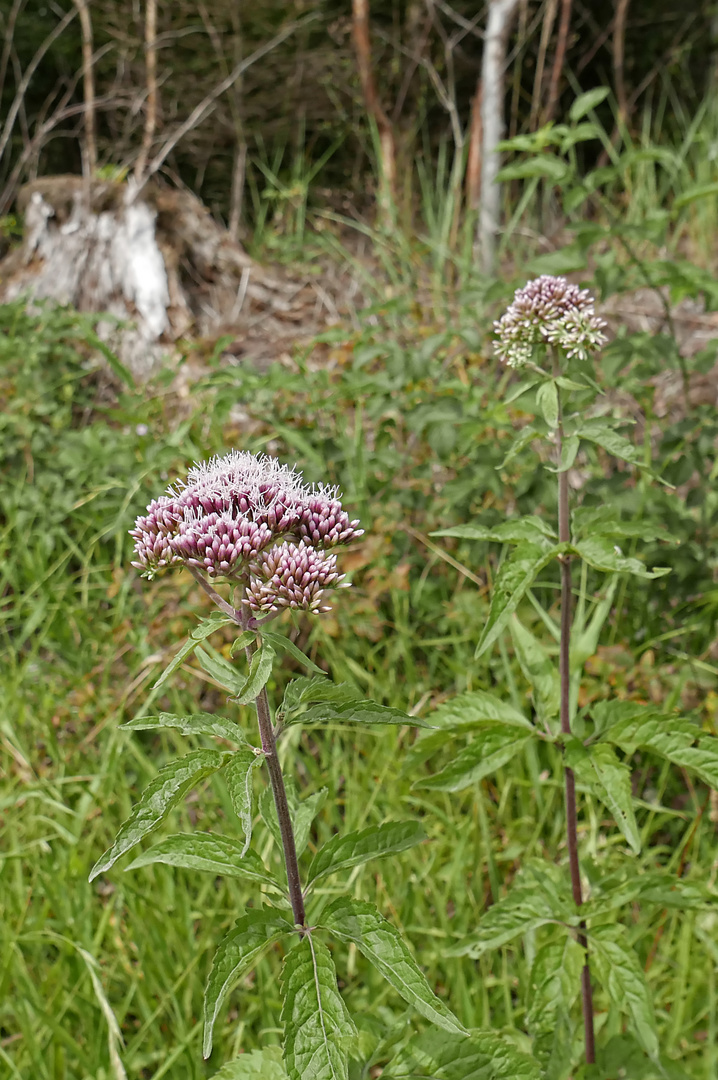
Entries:
[[596, 930], [591, 935], [591, 948], [598, 976], [612, 1003], [631, 1017], [646, 1053], [658, 1058], [659, 1038], [653, 1004], [644, 969], [628, 944], [625, 930], [618, 927]]

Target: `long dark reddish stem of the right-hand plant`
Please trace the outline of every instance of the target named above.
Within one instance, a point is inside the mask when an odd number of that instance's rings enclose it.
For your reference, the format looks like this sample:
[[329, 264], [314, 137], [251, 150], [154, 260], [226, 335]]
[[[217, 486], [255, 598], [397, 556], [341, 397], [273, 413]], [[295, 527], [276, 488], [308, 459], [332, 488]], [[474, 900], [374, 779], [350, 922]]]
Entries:
[[[556, 368], [558, 368], [558, 357], [556, 357]], [[560, 467], [561, 445], [564, 441], [564, 417], [560, 407], [560, 390], [558, 391], [558, 423], [556, 427], [556, 448], [558, 451], [558, 464]], [[569, 491], [568, 491], [568, 470], [558, 473], [558, 542], [571, 542], [571, 529], [569, 525]], [[560, 725], [561, 733], [571, 734], [571, 712], [570, 712], [570, 643], [571, 643], [571, 559], [570, 555], [561, 555], [561, 625], [560, 646], [558, 653], [558, 671], [560, 677]], [[577, 907], [583, 904], [581, 892], [581, 868], [579, 866], [579, 837], [578, 837], [578, 813], [575, 807], [575, 777], [573, 770], [565, 769], [566, 778], [566, 833], [568, 840], [568, 861], [571, 874], [571, 891], [573, 903]], [[583, 1034], [586, 1052], [586, 1064], [593, 1065], [596, 1061], [596, 1045], [594, 1039], [594, 1002], [593, 989], [591, 986], [591, 966], [588, 962], [588, 941], [586, 937], [586, 923], [581, 920], [578, 934], [579, 945], [583, 949], [584, 964], [581, 972], [581, 1000], [583, 1005]]]

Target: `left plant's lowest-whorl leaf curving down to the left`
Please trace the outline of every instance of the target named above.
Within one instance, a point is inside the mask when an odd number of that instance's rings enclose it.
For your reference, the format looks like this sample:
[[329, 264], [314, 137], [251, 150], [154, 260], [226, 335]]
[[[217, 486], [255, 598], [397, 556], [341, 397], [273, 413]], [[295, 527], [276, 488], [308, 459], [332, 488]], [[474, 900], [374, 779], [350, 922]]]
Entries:
[[212, 1053], [215, 1021], [225, 998], [234, 983], [254, 968], [261, 954], [284, 934], [292, 933], [292, 923], [271, 908], [247, 912], [220, 942], [212, 961], [212, 971], [204, 991], [204, 1047]]

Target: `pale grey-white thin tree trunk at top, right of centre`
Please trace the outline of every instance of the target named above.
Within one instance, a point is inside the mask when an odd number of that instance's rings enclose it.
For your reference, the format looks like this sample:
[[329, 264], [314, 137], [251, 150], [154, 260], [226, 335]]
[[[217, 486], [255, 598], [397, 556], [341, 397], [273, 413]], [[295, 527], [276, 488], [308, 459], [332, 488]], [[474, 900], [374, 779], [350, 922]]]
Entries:
[[504, 129], [503, 77], [509, 35], [519, 0], [491, 0], [484, 37], [482, 62], [482, 206], [478, 245], [484, 273], [493, 273], [496, 242], [501, 225], [501, 187], [497, 174], [501, 162], [497, 146]]

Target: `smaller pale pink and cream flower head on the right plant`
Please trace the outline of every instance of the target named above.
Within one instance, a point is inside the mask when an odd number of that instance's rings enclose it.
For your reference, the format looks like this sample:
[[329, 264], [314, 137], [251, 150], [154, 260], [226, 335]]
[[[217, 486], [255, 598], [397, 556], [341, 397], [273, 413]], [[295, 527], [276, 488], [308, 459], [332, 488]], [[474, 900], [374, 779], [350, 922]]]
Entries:
[[537, 345], [554, 345], [582, 360], [606, 341], [606, 325], [587, 289], [566, 278], [542, 274], [516, 289], [506, 313], [493, 324], [496, 353], [510, 367], [527, 364]]

